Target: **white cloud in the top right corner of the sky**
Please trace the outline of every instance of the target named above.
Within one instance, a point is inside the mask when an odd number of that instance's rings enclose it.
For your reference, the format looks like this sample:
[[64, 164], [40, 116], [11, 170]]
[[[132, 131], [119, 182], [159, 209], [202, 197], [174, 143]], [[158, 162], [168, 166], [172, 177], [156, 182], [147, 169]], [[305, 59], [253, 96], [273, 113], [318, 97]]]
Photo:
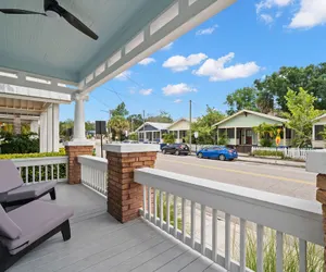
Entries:
[[290, 28], [309, 28], [326, 24], [325, 0], [301, 0], [300, 10], [291, 20]]

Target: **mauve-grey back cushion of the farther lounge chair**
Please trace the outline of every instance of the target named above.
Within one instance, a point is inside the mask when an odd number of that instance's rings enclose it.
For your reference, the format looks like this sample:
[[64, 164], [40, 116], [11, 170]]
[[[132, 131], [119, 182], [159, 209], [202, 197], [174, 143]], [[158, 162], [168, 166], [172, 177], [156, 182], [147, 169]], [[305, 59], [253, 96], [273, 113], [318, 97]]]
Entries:
[[20, 171], [11, 160], [0, 160], [0, 194], [24, 184]]

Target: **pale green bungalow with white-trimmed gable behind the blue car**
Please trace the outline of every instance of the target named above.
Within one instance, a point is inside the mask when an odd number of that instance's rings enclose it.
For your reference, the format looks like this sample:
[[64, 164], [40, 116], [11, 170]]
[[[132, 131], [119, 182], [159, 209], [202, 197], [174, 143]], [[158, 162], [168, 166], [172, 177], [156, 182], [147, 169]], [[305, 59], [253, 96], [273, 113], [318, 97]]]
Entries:
[[227, 133], [229, 145], [237, 146], [237, 149], [241, 152], [248, 152], [252, 146], [260, 145], [260, 135], [253, 132], [253, 127], [262, 123], [279, 126], [283, 129], [283, 135], [286, 135], [286, 137], [283, 137], [280, 146], [289, 146], [292, 132], [286, 128], [286, 119], [242, 110], [216, 123], [214, 127], [216, 127], [217, 138]]

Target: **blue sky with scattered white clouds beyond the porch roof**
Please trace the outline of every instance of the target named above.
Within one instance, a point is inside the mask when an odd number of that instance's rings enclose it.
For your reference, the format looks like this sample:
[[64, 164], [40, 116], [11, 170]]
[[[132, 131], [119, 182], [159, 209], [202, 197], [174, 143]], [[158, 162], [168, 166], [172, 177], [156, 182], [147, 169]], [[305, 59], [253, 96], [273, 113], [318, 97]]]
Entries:
[[[200, 116], [205, 106], [225, 111], [228, 94], [280, 66], [325, 62], [325, 0], [238, 0], [89, 96], [86, 120], [106, 120], [124, 101], [130, 113]], [[102, 111], [103, 110], [103, 111]], [[74, 103], [60, 119], [73, 119]]]

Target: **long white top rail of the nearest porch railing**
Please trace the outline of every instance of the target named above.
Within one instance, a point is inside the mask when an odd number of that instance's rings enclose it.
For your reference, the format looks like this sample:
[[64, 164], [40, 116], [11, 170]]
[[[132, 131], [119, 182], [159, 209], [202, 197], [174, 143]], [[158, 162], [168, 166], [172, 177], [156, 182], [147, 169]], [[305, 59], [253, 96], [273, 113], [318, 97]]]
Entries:
[[323, 217], [317, 202], [155, 169], [135, 170], [135, 181], [323, 245]]

